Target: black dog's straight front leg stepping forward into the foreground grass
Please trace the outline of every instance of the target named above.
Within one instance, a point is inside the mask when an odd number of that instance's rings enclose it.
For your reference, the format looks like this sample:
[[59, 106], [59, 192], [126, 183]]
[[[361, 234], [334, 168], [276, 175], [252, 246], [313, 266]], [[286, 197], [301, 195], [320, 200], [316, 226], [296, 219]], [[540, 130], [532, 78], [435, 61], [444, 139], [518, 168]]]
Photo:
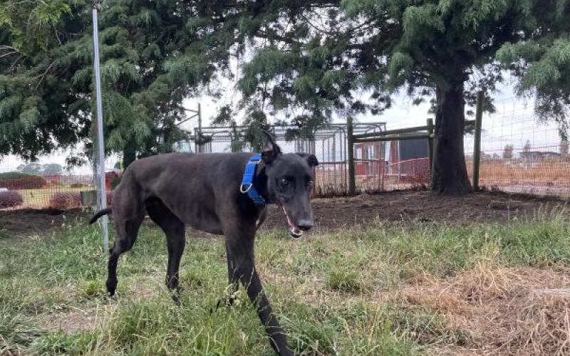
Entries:
[[285, 333], [279, 325], [279, 321], [275, 317], [269, 305], [261, 280], [257, 274], [254, 264], [254, 236], [255, 231], [251, 236], [244, 236], [243, 232], [237, 235], [228, 234], [227, 236], [227, 253], [228, 253], [228, 273], [229, 281], [242, 282], [247, 290], [249, 300], [252, 300], [261, 323], [265, 327], [267, 335], [269, 335], [269, 342], [271, 347], [279, 355], [293, 355], [287, 346], [287, 338]]

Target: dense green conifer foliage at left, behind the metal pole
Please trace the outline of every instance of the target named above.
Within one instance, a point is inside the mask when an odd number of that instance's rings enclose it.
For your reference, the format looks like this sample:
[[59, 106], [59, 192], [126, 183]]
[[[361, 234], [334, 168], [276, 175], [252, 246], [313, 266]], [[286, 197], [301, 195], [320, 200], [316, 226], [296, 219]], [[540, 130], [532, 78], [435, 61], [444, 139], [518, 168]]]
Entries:
[[[93, 1], [0, 4], [0, 155], [26, 159], [85, 142], [93, 108]], [[187, 4], [109, 0], [100, 9], [106, 152], [172, 150], [182, 138], [182, 100], [212, 73], [207, 57], [168, 61], [191, 46]]]

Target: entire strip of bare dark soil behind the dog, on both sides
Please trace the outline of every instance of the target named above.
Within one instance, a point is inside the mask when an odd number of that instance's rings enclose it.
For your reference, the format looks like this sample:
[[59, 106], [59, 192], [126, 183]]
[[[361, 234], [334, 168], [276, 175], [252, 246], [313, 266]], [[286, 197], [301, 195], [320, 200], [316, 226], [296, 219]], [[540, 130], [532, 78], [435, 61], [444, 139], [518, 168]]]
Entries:
[[[430, 192], [402, 191], [362, 194], [357, 197], [314, 199], [315, 231], [329, 231], [370, 221], [430, 222], [506, 222], [566, 209], [564, 201], [524, 197], [511, 194], [480, 192], [465, 197], [441, 197]], [[78, 219], [87, 219], [90, 212], [82, 209], [26, 209], [0, 211], [0, 231], [11, 236], [44, 234]], [[264, 229], [283, 229], [284, 216], [269, 206]]]

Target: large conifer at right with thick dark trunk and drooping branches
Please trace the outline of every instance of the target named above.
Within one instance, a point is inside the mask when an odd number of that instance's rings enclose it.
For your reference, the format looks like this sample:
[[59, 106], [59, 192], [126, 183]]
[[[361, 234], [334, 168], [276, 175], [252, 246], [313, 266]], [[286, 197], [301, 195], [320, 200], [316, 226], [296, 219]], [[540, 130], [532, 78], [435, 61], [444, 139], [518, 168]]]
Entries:
[[[465, 104], [477, 90], [489, 104], [512, 70], [520, 93], [537, 90], [537, 109], [564, 117], [568, 14], [563, 0], [214, 1], [193, 23], [204, 38], [234, 36], [237, 55], [255, 48], [242, 56], [239, 80], [252, 110], [285, 112], [306, 125], [333, 112], [379, 112], [402, 89], [415, 103], [432, 100], [432, 190], [465, 194]], [[357, 90], [371, 98], [358, 100]]]

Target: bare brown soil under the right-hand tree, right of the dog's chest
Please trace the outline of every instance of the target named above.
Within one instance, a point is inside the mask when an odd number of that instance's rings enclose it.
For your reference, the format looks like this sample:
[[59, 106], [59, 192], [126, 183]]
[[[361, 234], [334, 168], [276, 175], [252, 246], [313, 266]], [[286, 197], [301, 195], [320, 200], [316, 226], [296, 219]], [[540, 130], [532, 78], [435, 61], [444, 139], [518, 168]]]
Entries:
[[[565, 209], [564, 201], [495, 192], [443, 197], [425, 191], [362, 194], [357, 197], [314, 199], [316, 230], [366, 226], [371, 221], [432, 221], [435, 223], [507, 222]], [[281, 211], [270, 206], [266, 229], [281, 228]]]

